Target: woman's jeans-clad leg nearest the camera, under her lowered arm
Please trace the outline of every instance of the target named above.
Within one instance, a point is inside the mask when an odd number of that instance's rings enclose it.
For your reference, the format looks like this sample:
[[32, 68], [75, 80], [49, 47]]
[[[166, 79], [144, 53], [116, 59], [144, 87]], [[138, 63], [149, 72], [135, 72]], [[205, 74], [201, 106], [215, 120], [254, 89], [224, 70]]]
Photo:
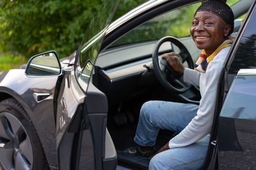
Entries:
[[204, 164], [208, 144], [209, 136], [205, 136], [192, 145], [158, 153], [150, 160], [149, 169], [199, 169]]

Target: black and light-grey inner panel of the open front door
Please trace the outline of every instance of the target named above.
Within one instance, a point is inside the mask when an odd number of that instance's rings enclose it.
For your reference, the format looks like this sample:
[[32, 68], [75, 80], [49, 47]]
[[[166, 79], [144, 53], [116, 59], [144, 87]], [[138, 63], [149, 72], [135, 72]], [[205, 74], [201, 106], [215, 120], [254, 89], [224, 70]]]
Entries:
[[[92, 127], [95, 167], [96, 169], [115, 169], [117, 162], [116, 150], [106, 129], [108, 99], [104, 93], [92, 83], [89, 83], [85, 104]], [[101, 162], [103, 163], [101, 164]]]

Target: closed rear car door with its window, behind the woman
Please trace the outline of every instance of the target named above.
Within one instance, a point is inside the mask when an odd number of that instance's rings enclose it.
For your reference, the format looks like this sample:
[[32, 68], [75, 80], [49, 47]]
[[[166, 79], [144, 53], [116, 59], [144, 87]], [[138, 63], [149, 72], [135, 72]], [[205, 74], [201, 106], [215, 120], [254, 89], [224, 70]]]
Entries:
[[[256, 152], [255, 1], [243, 21], [223, 75], [225, 102], [218, 122], [220, 169], [254, 169]], [[238, 34], [237, 34], [238, 36]], [[228, 93], [227, 93], [228, 92]]]

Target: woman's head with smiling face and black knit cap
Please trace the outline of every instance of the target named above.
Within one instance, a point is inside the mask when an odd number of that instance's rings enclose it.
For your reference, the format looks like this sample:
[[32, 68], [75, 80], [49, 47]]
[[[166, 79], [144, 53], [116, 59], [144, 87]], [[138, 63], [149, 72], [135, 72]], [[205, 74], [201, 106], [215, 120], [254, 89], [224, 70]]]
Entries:
[[234, 14], [231, 9], [225, 11], [225, 14], [220, 6], [217, 6], [219, 9], [212, 6], [200, 6], [190, 28], [196, 47], [204, 49], [207, 56], [210, 56], [234, 31]]

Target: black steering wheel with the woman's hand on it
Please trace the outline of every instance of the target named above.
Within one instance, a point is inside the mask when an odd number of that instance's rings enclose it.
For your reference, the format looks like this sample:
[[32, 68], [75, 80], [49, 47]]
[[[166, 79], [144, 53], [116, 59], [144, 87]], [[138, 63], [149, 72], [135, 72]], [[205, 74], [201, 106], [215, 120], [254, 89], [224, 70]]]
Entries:
[[[159, 48], [165, 42], [170, 42], [172, 51], [172, 45], [177, 46], [180, 51], [179, 55], [175, 53], [165, 53], [162, 56], [164, 59], [159, 59]], [[184, 73], [184, 67], [179, 62], [180, 57], [182, 59], [181, 63], [187, 62], [189, 68], [194, 67], [192, 57], [186, 46], [184, 46], [179, 39], [172, 36], [166, 36], [159, 39], [152, 52], [152, 62], [156, 78], [163, 87], [175, 94], [182, 94], [191, 87], [191, 85], [185, 83], [183, 78], [181, 78]]]

